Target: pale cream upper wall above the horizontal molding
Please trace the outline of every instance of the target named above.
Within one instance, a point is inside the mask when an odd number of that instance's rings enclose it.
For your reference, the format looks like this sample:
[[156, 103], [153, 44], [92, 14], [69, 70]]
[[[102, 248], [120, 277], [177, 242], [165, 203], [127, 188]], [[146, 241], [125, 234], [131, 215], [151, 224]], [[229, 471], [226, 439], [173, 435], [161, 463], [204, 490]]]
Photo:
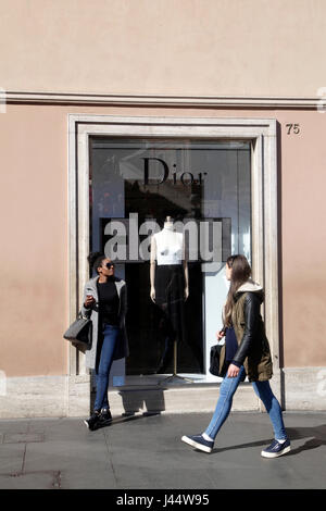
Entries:
[[315, 97], [325, 0], [7, 0], [10, 91]]

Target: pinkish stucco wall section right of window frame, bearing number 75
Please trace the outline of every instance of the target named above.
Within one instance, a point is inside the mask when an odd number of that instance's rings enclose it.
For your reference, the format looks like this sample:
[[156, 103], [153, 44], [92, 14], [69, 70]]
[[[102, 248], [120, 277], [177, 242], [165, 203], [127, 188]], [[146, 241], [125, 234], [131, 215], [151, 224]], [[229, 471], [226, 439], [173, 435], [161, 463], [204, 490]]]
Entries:
[[[278, 112], [300, 123], [281, 136], [281, 262], [286, 366], [326, 363], [326, 113]], [[298, 121], [297, 121], [298, 120]]]

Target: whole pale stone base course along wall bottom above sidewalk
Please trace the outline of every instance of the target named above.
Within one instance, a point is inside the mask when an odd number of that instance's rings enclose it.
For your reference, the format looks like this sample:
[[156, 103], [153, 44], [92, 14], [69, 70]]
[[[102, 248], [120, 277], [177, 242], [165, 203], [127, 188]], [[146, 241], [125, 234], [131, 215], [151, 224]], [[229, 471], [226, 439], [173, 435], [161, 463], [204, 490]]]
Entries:
[[[326, 367], [286, 367], [281, 370], [281, 377], [286, 411], [326, 411]], [[273, 378], [271, 383], [274, 389], [277, 382]], [[113, 387], [110, 402], [113, 416], [125, 412], [212, 413], [218, 391], [220, 384]], [[0, 419], [84, 417], [89, 411], [87, 375], [8, 377], [7, 391], [0, 395]], [[265, 411], [251, 384], [239, 386], [233, 411]]]

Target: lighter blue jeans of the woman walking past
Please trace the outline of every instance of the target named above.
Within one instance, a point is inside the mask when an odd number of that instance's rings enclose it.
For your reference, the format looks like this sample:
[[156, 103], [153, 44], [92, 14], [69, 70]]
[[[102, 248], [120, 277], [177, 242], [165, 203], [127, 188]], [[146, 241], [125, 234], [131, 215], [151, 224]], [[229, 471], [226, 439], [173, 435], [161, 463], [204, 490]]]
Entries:
[[[236, 394], [239, 383], [241, 382], [243, 376], [244, 367], [243, 365], [241, 365], [237, 377], [228, 378], [227, 376], [225, 376], [225, 378], [223, 379], [220, 387], [220, 397], [215, 408], [215, 412], [212, 416], [209, 427], [204, 432], [206, 435], [209, 435], [210, 438], [215, 439], [218, 431], [228, 417], [233, 406], [234, 395]], [[255, 394], [263, 401], [266, 408], [266, 411], [272, 421], [275, 438], [277, 438], [278, 440], [286, 439], [287, 434], [283, 422], [281, 409], [279, 402], [277, 401], [276, 397], [272, 391], [269, 382], [252, 382], [252, 386]]]

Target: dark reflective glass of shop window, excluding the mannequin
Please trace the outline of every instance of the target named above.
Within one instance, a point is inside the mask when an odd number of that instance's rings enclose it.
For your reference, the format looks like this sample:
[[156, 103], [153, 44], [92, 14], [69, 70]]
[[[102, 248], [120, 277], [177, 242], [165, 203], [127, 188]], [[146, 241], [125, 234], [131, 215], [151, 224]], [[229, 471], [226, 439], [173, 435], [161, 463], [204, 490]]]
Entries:
[[[116, 219], [125, 221], [127, 254], [130, 248], [139, 254], [138, 260], [126, 256], [116, 261], [116, 274], [128, 286], [130, 357], [126, 373], [173, 371], [168, 357], [167, 365], [162, 366], [171, 344], [166, 341], [162, 311], [150, 299], [149, 257], [142, 257], [146, 249], [143, 253], [139, 250], [141, 242], [142, 247], [150, 245], [149, 233], [141, 228], [156, 225], [162, 229], [166, 216], [172, 216], [179, 229], [186, 227], [187, 239], [198, 226], [198, 246], [190, 244], [187, 252], [189, 298], [185, 302], [186, 331], [178, 342], [177, 369], [178, 373], [205, 373], [227, 292], [224, 262], [230, 253], [243, 253], [251, 260], [250, 145], [95, 137], [90, 147], [90, 248], [112, 247], [112, 236], [105, 234], [105, 228], [108, 232], [108, 224]], [[135, 237], [128, 219], [136, 214]], [[200, 226], [203, 221], [211, 222], [206, 232]], [[214, 226], [218, 246], [212, 249], [210, 229]], [[212, 252], [214, 260], [208, 261]]]

